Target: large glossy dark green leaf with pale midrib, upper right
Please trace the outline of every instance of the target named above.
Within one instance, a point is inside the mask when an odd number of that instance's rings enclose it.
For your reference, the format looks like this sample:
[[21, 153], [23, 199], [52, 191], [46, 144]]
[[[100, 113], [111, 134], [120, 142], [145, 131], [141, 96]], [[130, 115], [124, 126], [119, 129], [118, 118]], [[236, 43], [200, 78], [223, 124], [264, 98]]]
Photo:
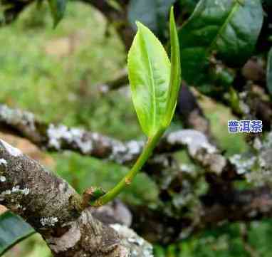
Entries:
[[201, 0], [179, 31], [182, 70], [188, 83], [201, 83], [216, 53], [228, 65], [243, 65], [253, 53], [263, 23], [259, 0]]

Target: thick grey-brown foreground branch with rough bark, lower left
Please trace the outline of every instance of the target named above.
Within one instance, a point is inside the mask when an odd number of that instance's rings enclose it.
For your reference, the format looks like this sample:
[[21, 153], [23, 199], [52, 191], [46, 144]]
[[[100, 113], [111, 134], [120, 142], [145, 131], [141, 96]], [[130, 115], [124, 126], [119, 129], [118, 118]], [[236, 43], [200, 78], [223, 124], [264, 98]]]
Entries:
[[67, 182], [3, 140], [0, 202], [31, 224], [54, 256], [125, 257], [132, 251], [152, 256], [148, 243], [121, 225], [110, 227], [95, 219]]

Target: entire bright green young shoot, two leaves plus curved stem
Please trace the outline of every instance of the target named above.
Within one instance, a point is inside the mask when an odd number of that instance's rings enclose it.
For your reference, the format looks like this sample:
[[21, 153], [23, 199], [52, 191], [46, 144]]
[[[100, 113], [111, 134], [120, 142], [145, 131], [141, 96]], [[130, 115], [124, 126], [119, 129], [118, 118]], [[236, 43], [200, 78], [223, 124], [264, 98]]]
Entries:
[[130, 172], [107, 194], [96, 199], [93, 202], [95, 206], [107, 204], [132, 182], [169, 126], [177, 105], [181, 68], [173, 7], [169, 21], [171, 63], [164, 47], [149, 28], [140, 22], [137, 22], [137, 28], [128, 53], [127, 66], [132, 100], [142, 130], [148, 139]]

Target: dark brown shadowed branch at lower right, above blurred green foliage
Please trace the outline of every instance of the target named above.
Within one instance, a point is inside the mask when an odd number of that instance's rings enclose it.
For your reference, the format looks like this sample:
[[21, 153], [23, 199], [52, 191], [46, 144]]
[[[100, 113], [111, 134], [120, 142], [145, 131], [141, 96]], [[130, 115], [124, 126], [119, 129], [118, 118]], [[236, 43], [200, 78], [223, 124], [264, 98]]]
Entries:
[[206, 195], [194, 216], [179, 217], [162, 215], [162, 211], [132, 206], [137, 214], [132, 227], [149, 241], [169, 244], [208, 227], [220, 226], [222, 222], [253, 221], [272, 217], [272, 194], [269, 187], [250, 190], [225, 191], [226, 195]]

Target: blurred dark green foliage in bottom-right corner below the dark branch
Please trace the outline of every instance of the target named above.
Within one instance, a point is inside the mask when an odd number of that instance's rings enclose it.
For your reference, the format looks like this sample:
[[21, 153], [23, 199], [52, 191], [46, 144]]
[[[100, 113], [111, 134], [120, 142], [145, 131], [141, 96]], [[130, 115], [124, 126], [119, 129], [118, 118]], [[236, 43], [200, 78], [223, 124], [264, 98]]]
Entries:
[[[208, 229], [182, 243], [155, 247], [156, 257], [270, 257], [272, 221], [235, 223]], [[246, 229], [247, 239], [243, 239]]]

